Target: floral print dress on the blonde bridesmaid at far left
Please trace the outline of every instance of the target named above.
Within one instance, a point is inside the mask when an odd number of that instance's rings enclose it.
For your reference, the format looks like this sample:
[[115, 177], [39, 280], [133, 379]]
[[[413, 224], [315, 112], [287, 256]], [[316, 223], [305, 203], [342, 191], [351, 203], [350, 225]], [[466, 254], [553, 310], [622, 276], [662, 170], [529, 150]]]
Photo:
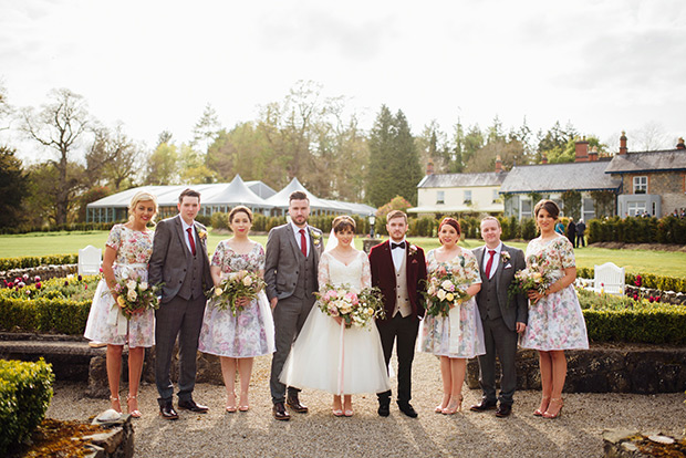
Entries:
[[[147, 263], [153, 254], [153, 231], [138, 231], [124, 225], [114, 225], [105, 246], [116, 250], [113, 269], [117, 282], [125, 277], [147, 281]], [[114, 316], [115, 313], [119, 316]], [[126, 318], [115, 304], [105, 279], [102, 279], [93, 296], [85, 337], [112, 345], [128, 344], [129, 347], [155, 345], [154, 310], [134, 315], [125, 326], [118, 326], [116, 323]]]

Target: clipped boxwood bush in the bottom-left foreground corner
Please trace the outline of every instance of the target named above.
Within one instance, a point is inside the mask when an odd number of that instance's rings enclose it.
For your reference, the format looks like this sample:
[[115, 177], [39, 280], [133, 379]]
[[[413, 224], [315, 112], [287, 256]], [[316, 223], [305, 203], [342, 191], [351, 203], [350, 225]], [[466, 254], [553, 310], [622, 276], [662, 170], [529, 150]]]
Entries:
[[0, 456], [43, 420], [53, 381], [52, 367], [43, 358], [37, 363], [0, 360]]

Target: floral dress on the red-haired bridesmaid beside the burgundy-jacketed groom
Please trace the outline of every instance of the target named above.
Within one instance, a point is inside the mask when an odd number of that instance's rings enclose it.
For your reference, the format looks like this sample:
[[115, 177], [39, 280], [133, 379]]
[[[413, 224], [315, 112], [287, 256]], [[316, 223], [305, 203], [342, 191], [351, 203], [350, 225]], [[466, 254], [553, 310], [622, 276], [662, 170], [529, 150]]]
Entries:
[[[453, 270], [457, 277], [465, 278], [464, 289], [474, 283], [481, 283], [479, 266], [471, 251], [462, 249], [460, 254], [445, 262], [436, 260], [435, 251], [430, 250], [426, 256], [426, 270], [429, 277], [440, 271]], [[470, 298], [458, 308], [451, 309], [448, 316], [426, 315], [422, 323], [419, 351], [437, 356], [464, 358], [486, 354], [484, 327], [476, 299]]]

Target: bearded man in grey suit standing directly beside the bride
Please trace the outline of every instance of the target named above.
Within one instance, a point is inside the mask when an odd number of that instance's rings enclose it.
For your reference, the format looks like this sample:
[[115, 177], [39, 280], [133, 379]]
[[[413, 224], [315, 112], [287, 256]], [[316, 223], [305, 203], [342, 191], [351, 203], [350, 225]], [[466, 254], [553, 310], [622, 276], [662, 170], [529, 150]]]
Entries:
[[267, 296], [274, 316], [276, 346], [271, 361], [271, 400], [273, 415], [278, 420], [289, 420], [285, 404], [297, 413], [306, 413], [300, 403], [300, 389], [279, 381], [283, 364], [298, 333], [314, 304], [314, 291], [319, 290], [316, 273], [322, 253], [322, 231], [308, 225], [310, 199], [302, 191], [294, 191], [289, 198], [291, 221], [269, 231], [264, 280]]

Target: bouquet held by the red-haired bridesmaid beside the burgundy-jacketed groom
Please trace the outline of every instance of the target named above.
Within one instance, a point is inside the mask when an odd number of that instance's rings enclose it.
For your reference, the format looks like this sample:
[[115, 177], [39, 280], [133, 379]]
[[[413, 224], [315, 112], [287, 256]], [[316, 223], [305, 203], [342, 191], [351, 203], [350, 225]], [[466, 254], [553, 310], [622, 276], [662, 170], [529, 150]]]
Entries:
[[468, 280], [460, 272], [464, 272], [464, 270], [457, 268], [447, 270], [441, 267], [429, 275], [426, 293], [424, 293], [427, 301], [426, 313], [428, 315], [448, 316], [451, 308], [458, 306], [469, 299], [469, 294], [464, 290]]

